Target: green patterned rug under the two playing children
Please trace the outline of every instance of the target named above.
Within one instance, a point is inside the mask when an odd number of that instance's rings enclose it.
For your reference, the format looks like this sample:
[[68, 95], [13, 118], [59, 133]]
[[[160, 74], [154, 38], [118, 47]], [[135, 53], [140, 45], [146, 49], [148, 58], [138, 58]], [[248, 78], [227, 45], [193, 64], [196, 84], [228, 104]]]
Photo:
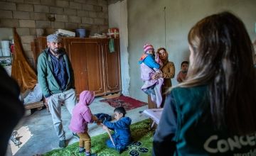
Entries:
[[[98, 156], [114, 156], [114, 155], [130, 155], [130, 156], [139, 156], [139, 155], [151, 155], [152, 142], [153, 142], [153, 133], [154, 130], [150, 130], [149, 119], [134, 123], [131, 126], [133, 142], [131, 145], [127, 146], [127, 149], [119, 154], [116, 150], [108, 148], [105, 144], [106, 140], [109, 138], [107, 133], [102, 135], [97, 135], [92, 137], [92, 153], [97, 153]], [[63, 149], [52, 150], [44, 154], [46, 156], [75, 156], [75, 155], [85, 155], [84, 153], [80, 154], [78, 151], [78, 143], [73, 143], [68, 145]]]

